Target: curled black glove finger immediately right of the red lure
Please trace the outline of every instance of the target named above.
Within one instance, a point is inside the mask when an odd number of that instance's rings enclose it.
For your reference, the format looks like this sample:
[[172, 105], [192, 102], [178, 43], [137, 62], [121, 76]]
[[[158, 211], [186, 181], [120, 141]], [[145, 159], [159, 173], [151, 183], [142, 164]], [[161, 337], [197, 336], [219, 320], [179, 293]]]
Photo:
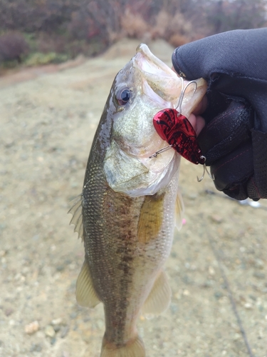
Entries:
[[252, 116], [248, 104], [232, 100], [225, 111], [206, 124], [198, 141], [207, 166], [229, 154], [242, 142], [248, 141]]

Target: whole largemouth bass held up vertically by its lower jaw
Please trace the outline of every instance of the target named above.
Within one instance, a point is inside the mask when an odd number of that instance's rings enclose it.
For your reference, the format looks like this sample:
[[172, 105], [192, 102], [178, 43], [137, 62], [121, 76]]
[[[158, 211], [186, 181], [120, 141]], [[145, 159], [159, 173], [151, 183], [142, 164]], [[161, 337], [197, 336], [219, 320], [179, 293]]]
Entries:
[[[206, 92], [197, 80], [184, 94], [189, 116]], [[70, 213], [83, 238], [85, 261], [76, 298], [93, 308], [102, 302], [102, 357], [143, 357], [137, 318], [169, 306], [171, 290], [162, 270], [182, 221], [178, 193], [179, 154], [164, 148], [152, 123], [157, 111], [175, 108], [182, 80], [145, 44], [117, 74], [90, 150], [83, 192]]]

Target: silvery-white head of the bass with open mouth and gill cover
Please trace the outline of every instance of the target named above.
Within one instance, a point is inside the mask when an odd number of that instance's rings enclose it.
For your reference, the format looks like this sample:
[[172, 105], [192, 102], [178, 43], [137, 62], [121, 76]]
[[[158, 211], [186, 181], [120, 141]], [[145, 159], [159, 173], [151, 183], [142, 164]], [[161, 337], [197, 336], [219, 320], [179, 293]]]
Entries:
[[132, 197], [153, 195], [177, 172], [180, 156], [174, 149], [150, 156], [168, 145], [155, 131], [153, 117], [162, 109], [175, 108], [181, 91], [182, 79], [145, 44], [137, 47], [135, 56], [117, 74], [107, 109], [112, 123], [104, 159], [105, 175], [114, 191]]

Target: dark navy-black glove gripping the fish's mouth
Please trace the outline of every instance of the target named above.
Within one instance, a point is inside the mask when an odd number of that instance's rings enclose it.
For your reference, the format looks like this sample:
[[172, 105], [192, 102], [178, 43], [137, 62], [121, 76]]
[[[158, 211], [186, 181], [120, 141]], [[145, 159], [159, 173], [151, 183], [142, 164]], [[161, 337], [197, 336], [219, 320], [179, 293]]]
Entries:
[[267, 28], [185, 44], [172, 63], [185, 79], [208, 82], [198, 141], [216, 188], [238, 200], [267, 198]]

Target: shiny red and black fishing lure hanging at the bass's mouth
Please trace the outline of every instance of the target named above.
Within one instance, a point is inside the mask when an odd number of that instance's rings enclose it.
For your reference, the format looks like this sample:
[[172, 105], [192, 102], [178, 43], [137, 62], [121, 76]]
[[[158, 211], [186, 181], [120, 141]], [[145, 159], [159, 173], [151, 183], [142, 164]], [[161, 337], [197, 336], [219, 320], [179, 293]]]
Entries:
[[172, 145], [184, 159], [193, 164], [204, 164], [205, 158], [197, 143], [197, 134], [190, 121], [176, 109], [163, 109], [153, 118], [157, 134]]

